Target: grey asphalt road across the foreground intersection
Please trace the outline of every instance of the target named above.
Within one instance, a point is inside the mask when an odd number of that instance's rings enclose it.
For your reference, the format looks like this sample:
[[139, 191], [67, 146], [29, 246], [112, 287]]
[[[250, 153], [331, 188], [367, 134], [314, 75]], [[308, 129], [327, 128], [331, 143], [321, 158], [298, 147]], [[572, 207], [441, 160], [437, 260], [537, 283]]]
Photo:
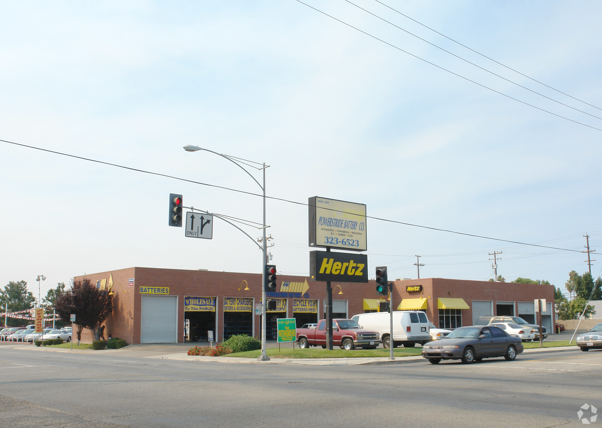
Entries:
[[115, 358], [0, 348], [0, 426], [544, 428], [602, 409], [602, 351], [472, 365]]

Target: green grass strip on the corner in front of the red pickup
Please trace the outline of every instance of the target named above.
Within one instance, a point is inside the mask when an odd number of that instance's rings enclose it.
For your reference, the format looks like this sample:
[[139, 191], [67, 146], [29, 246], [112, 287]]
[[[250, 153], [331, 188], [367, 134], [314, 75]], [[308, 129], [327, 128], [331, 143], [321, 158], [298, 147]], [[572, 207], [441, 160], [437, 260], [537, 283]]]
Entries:
[[[422, 348], [397, 348], [393, 350], [394, 356], [412, 356], [421, 355]], [[282, 348], [280, 351], [278, 348], [268, 348], [265, 353], [270, 358], [373, 358], [373, 357], [388, 357], [388, 349], [355, 349], [347, 351], [344, 349], [328, 350], [320, 348], [309, 348], [309, 349], [291, 349]], [[234, 354], [227, 354], [225, 356], [234, 356], [241, 358], [257, 358], [261, 355], [261, 350], [237, 352]]]

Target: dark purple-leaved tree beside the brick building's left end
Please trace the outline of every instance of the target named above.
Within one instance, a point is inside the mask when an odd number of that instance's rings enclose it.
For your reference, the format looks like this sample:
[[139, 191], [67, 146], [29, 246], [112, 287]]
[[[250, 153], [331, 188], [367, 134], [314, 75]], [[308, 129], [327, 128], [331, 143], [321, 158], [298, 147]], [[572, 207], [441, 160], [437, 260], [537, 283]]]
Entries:
[[55, 309], [63, 321], [69, 321], [75, 314], [77, 341], [81, 341], [84, 328], [94, 332], [95, 340], [100, 339], [101, 324], [113, 311], [113, 300], [108, 290], [99, 290], [89, 279], [74, 282], [71, 288], [57, 297]]

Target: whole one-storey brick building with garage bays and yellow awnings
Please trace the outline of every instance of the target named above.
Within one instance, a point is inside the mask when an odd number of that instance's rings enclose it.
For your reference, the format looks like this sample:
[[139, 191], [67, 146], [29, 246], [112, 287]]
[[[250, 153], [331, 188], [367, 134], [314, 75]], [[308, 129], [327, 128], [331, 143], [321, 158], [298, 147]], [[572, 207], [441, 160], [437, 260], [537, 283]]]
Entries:
[[[131, 267], [76, 276], [90, 279], [97, 287], [113, 293], [113, 314], [105, 321], [105, 336], [128, 344], [216, 341], [231, 335], [261, 334], [261, 274]], [[546, 299], [544, 326], [553, 331], [554, 290], [551, 285], [507, 282], [464, 281], [426, 278], [393, 281], [396, 309], [421, 309], [437, 327], [472, 325], [482, 315], [519, 315], [535, 322], [533, 300]], [[335, 318], [379, 310], [385, 301], [376, 293], [376, 283], [333, 283]], [[305, 276], [278, 275], [278, 290], [268, 293], [276, 300], [275, 311], [267, 314], [266, 335], [276, 338], [277, 318], [297, 318], [297, 326], [324, 317], [326, 284]], [[82, 332], [90, 342], [90, 330]]]

